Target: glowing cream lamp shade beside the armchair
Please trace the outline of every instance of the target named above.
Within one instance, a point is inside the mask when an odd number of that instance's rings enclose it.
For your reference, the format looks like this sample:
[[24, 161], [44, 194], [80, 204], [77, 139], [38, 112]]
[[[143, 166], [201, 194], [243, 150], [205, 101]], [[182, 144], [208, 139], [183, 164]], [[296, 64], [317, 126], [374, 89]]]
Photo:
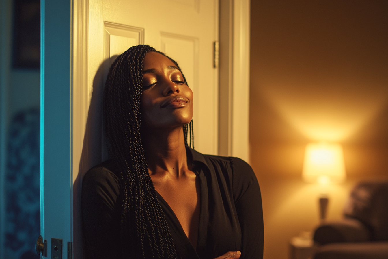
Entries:
[[341, 183], [345, 178], [345, 163], [340, 144], [324, 142], [307, 144], [303, 163], [304, 181]]

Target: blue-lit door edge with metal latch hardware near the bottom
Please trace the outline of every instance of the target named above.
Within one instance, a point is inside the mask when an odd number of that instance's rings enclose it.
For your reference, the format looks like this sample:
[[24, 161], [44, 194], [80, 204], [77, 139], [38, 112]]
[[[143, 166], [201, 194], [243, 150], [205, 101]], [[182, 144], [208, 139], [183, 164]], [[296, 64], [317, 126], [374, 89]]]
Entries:
[[71, 4], [41, 2], [40, 202], [48, 243], [72, 241]]

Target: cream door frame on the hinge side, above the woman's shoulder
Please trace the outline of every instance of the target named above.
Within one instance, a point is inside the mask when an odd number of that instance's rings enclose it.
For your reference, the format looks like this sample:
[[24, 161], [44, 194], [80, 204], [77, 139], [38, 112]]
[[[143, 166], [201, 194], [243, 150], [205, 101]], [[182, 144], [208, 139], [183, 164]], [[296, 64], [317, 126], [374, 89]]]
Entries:
[[249, 163], [250, 1], [220, 0], [218, 155]]

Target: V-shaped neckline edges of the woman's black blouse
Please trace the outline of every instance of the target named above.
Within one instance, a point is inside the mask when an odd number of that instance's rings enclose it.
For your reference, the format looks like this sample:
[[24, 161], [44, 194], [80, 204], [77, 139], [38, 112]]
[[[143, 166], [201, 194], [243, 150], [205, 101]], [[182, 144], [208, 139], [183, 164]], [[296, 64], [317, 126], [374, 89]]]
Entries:
[[[170, 216], [172, 217], [172, 220], [175, 223], [175, 226], [177, 229], [174, 229], [174, 231], [178, 231], [178, 235], [184, 237], [184, 245], [189, 246], [192, 248], [193, 252], [197, 254], [198, 259], [199, 254], [203, 254], [205, 246], [206, 246], [206, 236], [207, 236], [207, 225], [208, 225], [208, 188], [206, 184], [206, 177], [203, 175], [202, 172], [196, 173], [197, 177], [199, 177], [199, 186], [200, 186], [200, 206], [199, 206], [199, 222], [198, 222], [198, 236], [197, 236], [197, 247], [194, 248], [191, 244], [189, 238], [187, 237], [182, 224], [180, 224], [180, 221], [175, 214], [175, 212], [171, 209], [170, 205], [166, 202], [166, 200], [163, 198], [163, 196], [160, 195], [158, 191], [156, 191], [156, 194], [158, 195], [158, 199], [163, 205], [165, 205], [165, 208], [168, 210]], [[181, 240], [183, 241], [183, 240]]]

